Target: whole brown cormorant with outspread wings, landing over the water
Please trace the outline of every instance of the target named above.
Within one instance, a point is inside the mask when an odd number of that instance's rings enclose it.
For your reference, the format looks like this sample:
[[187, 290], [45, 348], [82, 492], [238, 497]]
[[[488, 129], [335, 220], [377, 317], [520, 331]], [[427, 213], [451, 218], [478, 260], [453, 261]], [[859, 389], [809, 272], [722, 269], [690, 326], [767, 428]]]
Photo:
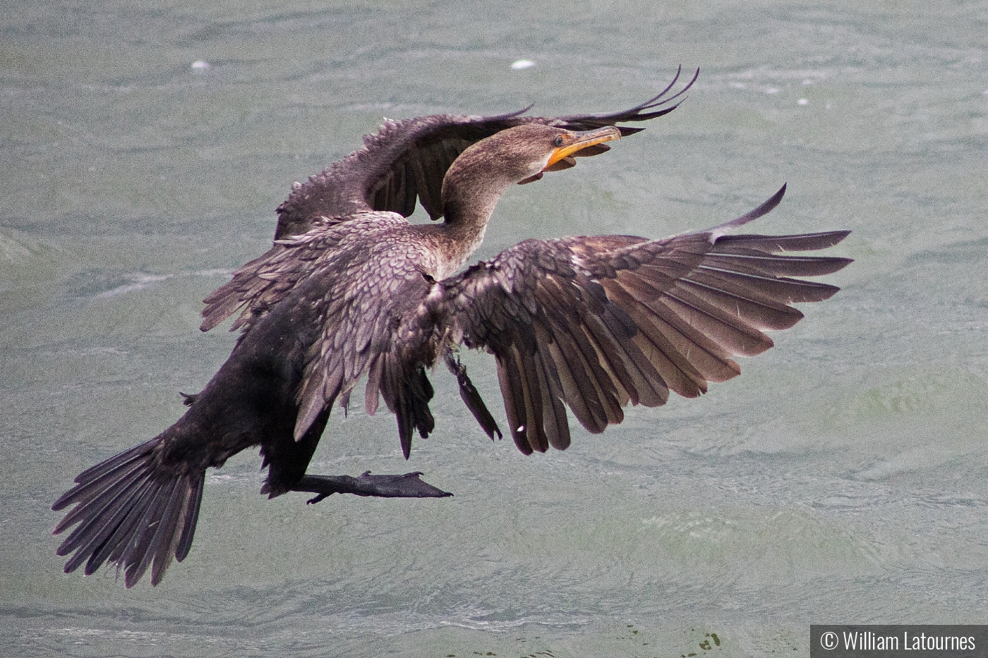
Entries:
[[[788, 253], [832, 246], [847, 231], [726, 234], [777, 206], [784, 186], [714, 229], [526, 240], [457, 274], [506, 189], [640, 129], [617, 123], [671, 112], [683, 93], [666, 97], [672, 86], [611, 115], [388, 122], [364, 148], [296, 184], [278, 208], [272, 249], [206, 297], [203, 330], [240, 311], [229, 360], [175, 425], [84, 471], [54, 504], [75, 506], [55, 529], [76, 526], [58, 548], [74, 553], [65, 570], [85, 564], [88, 574], [109, 560], [127, 587], [148, 567], [157, 584], [191, 547], [206, 468], [251, 446], [261, 446], [270, 496], [343, 490], [305, 470], [333, 404], [346, 406], [362, 378], [365, 408], [372, 414], [383, 398], [406, 457], [413, 434], [433, 430], [427, 370], [440, 360], [484, 432], [500, 436], [454, 358], [460, 344], [494, 355], [511, 434], [526, 453], [569, 445], [566, 406], [602, 432], [629, 402], [658, 406], [670, 390], [692, 397], [738, 374], [733, 356], [765, 351], [764, 330], [802, 317], [789, 304], [838, 289], [794, 277], [850, 262]], [[416, 200], [446, 220], [409, 224]], [[444, 493], [414, 474], [371, 477], [390, 479], [345, 490]]]

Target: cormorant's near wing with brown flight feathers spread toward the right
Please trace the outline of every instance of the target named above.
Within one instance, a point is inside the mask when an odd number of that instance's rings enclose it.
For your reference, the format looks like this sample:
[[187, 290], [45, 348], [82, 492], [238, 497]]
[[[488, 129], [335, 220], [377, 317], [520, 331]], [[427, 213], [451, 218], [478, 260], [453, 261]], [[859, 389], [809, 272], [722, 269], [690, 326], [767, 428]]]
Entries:
[[849, 231], [727, 235], [769, 212], [663, 240], [598, 236], [527, 240], [443, 282], [437, 305], [453, 339], [497, 361], [511, 432], [525, 453], [569, 446], [565, 402], [590, 432], [623, 419], [628, 402], [694, 397], [740, 372], [732, 356], [772, 347], [763, 333], [795, 324], [789, 304], [838, 288], [792, 277], [840, 270], [845, 258], [793, 256]]

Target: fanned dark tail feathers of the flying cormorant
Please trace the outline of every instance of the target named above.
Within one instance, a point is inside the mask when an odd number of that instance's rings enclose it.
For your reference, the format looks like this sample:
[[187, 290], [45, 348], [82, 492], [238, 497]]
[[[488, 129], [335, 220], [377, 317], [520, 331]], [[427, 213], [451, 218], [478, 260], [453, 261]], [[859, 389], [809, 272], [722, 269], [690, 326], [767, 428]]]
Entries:
[[206, 468], [161, 468], [157, 449], [167, 434], [84, 470], [51, 506], [58, 511], [75, 505], [53, 533], [78, 524], [58, 546], [58, 555], [74, 552], [65, 573], [85, 562], [88, 576], [110, 561], [118, 575], [124, 570], [129, 588], [151, 566], [151, 584], [157, 585], [173, 557], [181, 562], [189, 554]]

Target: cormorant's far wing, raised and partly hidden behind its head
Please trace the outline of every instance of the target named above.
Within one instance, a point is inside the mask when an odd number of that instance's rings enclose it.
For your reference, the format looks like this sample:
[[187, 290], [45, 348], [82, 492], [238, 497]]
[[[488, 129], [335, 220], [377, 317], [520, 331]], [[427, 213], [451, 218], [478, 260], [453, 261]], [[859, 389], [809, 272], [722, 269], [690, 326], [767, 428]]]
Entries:
[[[693, 85], [669, 95], [681, 70], [662, 93], [628, 110], [613, 114], [567, 117], [523, 117], [522, 110], [495, 117], [432, 115], [404, 121], [385, 121], [379, 131], [364, 138], [364, 147], [334, 163], [320, 174], [293, 186], [278, 207], [275, 239], [304, 233], [319, 217], [343, 217], [361, 210], [390, 210], [408, 216], [416, 200], [433, 219], [443, 216], [440, 193], [443, 177], [453, 160], [470, 144], [522, 123], [546, 123], [586, 130], [616, 123], [644, 122], [676, 109], [676, 99]], [[619, 126], [622, 135], [642, 128]], [[581, 151], [596, 155], [608, 150], [601, 144]], [[572, 166], [572, 160], [556, 169]]]

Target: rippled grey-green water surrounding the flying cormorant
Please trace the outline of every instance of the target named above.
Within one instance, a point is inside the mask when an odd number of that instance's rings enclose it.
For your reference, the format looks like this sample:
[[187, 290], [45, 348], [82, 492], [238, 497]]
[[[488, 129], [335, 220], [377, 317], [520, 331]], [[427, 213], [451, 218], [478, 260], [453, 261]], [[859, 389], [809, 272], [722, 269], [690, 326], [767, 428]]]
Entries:
[[[599, 7], [5, 8], [0, 654], [804, 656], [811, 622], [988, 617], [988, 7]], [[787, 182], [753, 230], [850, 228], [832, 253], [856, 263], [774, 350], [532, 457], [440, 370], [408, 462], [352, 412], [311, 470], [422, 470], [453, 498], [268, 501], [244, 453], [159, 587], [62, 573], [51, 502], [223, 363], [200, 300], [267, 249], [292, 181], [382, 117], [614, 111], [681, 63], [679, 110], [512, 190], [477, 256], [709, 226]], [[502, 418], [491, 360], [466, 363]]]

